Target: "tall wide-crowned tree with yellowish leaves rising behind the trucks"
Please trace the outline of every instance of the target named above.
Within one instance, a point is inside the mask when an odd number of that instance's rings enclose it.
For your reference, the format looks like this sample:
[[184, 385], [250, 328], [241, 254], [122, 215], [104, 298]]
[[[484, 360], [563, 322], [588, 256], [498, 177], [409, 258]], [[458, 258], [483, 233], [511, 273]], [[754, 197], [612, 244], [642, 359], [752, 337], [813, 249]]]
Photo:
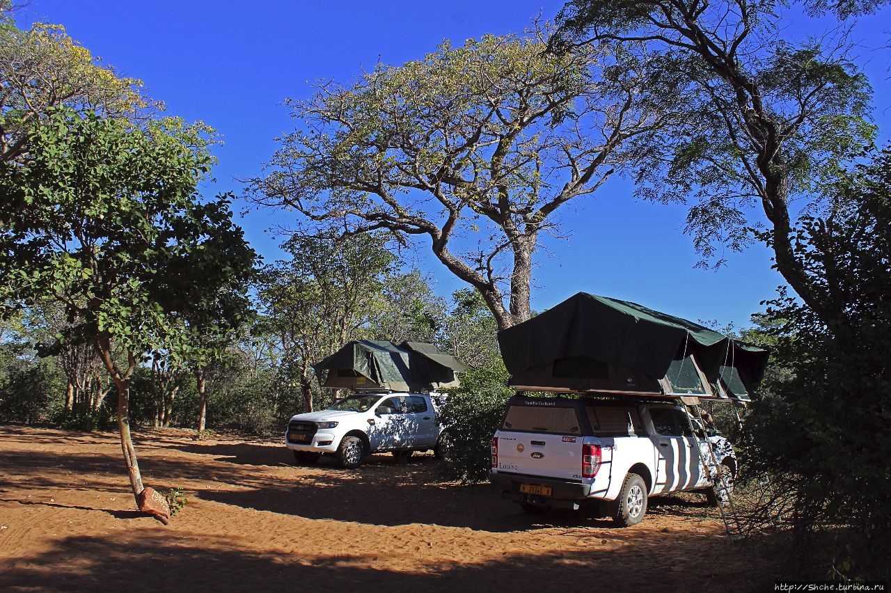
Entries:
[[589, 46], [545, 53], [546, 38], [445, 43], [290, 101], [305, 125], [282, 138], [253, 198], [323, 232], [425, 237], [500, 328], [527, 320], [540, 234], [639, 158], [665, 109], [642, 101], [646, 60]]

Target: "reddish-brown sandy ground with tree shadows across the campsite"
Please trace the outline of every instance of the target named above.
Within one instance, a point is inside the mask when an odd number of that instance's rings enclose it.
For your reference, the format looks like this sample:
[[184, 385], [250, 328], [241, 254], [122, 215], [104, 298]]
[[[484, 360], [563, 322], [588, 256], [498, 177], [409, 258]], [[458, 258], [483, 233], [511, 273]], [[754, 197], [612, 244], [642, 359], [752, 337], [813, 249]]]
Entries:
[[117, 435], [0, 426], [0, 590], [772, 590], [697, 494], [642, 524], [524, 514], [440, 462], [296, 467], [281, 443], [138, 435], [146, 485], [181, 487], [168, 526], [135, 512]]

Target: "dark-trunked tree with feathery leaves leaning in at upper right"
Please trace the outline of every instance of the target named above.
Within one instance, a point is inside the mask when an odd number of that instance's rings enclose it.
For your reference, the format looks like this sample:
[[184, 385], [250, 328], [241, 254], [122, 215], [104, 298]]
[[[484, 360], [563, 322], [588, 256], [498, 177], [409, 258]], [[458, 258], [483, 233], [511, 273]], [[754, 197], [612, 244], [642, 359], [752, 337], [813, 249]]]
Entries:
[[722, 242], [763, 240], [789, 286], [832, 324], [843, 312], [805, 270], [796, 216], [832, 207], [846, 159], [871, 142], [870, 88], [845, 37], [796, 41], [780, 9], [777, 0], [574, 0], [552, 50], [650, 52], [658, 68], [645, 87], [670, 89], [676, 110], [640, 169], [639, 194], [691, 200], [687, 231], [707, 258]]

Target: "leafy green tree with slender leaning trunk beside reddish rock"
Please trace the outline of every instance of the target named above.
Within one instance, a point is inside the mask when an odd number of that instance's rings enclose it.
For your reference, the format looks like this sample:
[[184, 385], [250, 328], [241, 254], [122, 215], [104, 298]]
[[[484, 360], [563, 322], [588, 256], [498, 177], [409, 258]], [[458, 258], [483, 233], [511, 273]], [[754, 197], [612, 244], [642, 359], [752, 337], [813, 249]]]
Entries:
[[0, 191], [12, 197], [0, 204], [9, 221], [0, 232], [0, 297], [55, 300], [78, 322], [72, 335], [94, 346], [117, 387], [137, 501], [144, 487], [130, 436], [134, 370], [145, 353], [181, 347], [184, 305], [215, 310], [254, 258], [228, 202], [202, 203], [196, 194], [210, 163], [203, 128], [177, 124], [137, 129], [53, 110], [32, 126], [28, 160], [0, 169]]

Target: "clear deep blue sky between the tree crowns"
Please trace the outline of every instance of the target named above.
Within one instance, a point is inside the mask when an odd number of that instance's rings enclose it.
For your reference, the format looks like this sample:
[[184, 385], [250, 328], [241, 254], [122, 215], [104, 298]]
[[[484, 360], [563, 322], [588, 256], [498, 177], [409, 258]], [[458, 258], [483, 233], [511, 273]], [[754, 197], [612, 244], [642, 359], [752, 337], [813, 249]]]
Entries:
[[[305, 98], [318, 79], [349, 82], [379, 61], [401, 64], [421, 58], [445, 38], [454, 44], [485, 33], [520, 32], [535, 14], [552, 18], [561, 2], [452, 0], [426, 4], [405, 0], [366, 3], [255, 0], [31, 0], [21, 25], [60, 23], [69, 34], [120, 73], [143, 79], [168, 113], [201, 119], [217, 128], [216, 181], [205, 193], [241, 191], [237, 178], [260, 173], [274, 152], [274, 138], [290, 130], [285, 97]], [[858, 60], [875, 89], [881, 138], [891, 130], [891, 9], [861, 20], [854, 29]], [[819, 33], [831, 18], [797, 16], [796, 31]], [[791, 30], [791, 29], [790, 29]], [[726, 253], [717, 271], [694, 269], [698, 256], [683, 235], [685, 209], [632, 199], [633, 187], [613, 179], [595, 197], [561, 215], [568, 240], [545, 240], [535, 268], [533, 307], [542, 310], [582, 290], [638, 302], [692, 320], [748, 325], [781, 277], [770, 270], [760, 246]], [[246, 205], [238, 205], [244, 209]], [[257, 251], [280, 253], [268, 232], [289, 215], [245, 213], [241, 224]], [[414, 256], [438, 293], [462, 288], [424, 243]]]

